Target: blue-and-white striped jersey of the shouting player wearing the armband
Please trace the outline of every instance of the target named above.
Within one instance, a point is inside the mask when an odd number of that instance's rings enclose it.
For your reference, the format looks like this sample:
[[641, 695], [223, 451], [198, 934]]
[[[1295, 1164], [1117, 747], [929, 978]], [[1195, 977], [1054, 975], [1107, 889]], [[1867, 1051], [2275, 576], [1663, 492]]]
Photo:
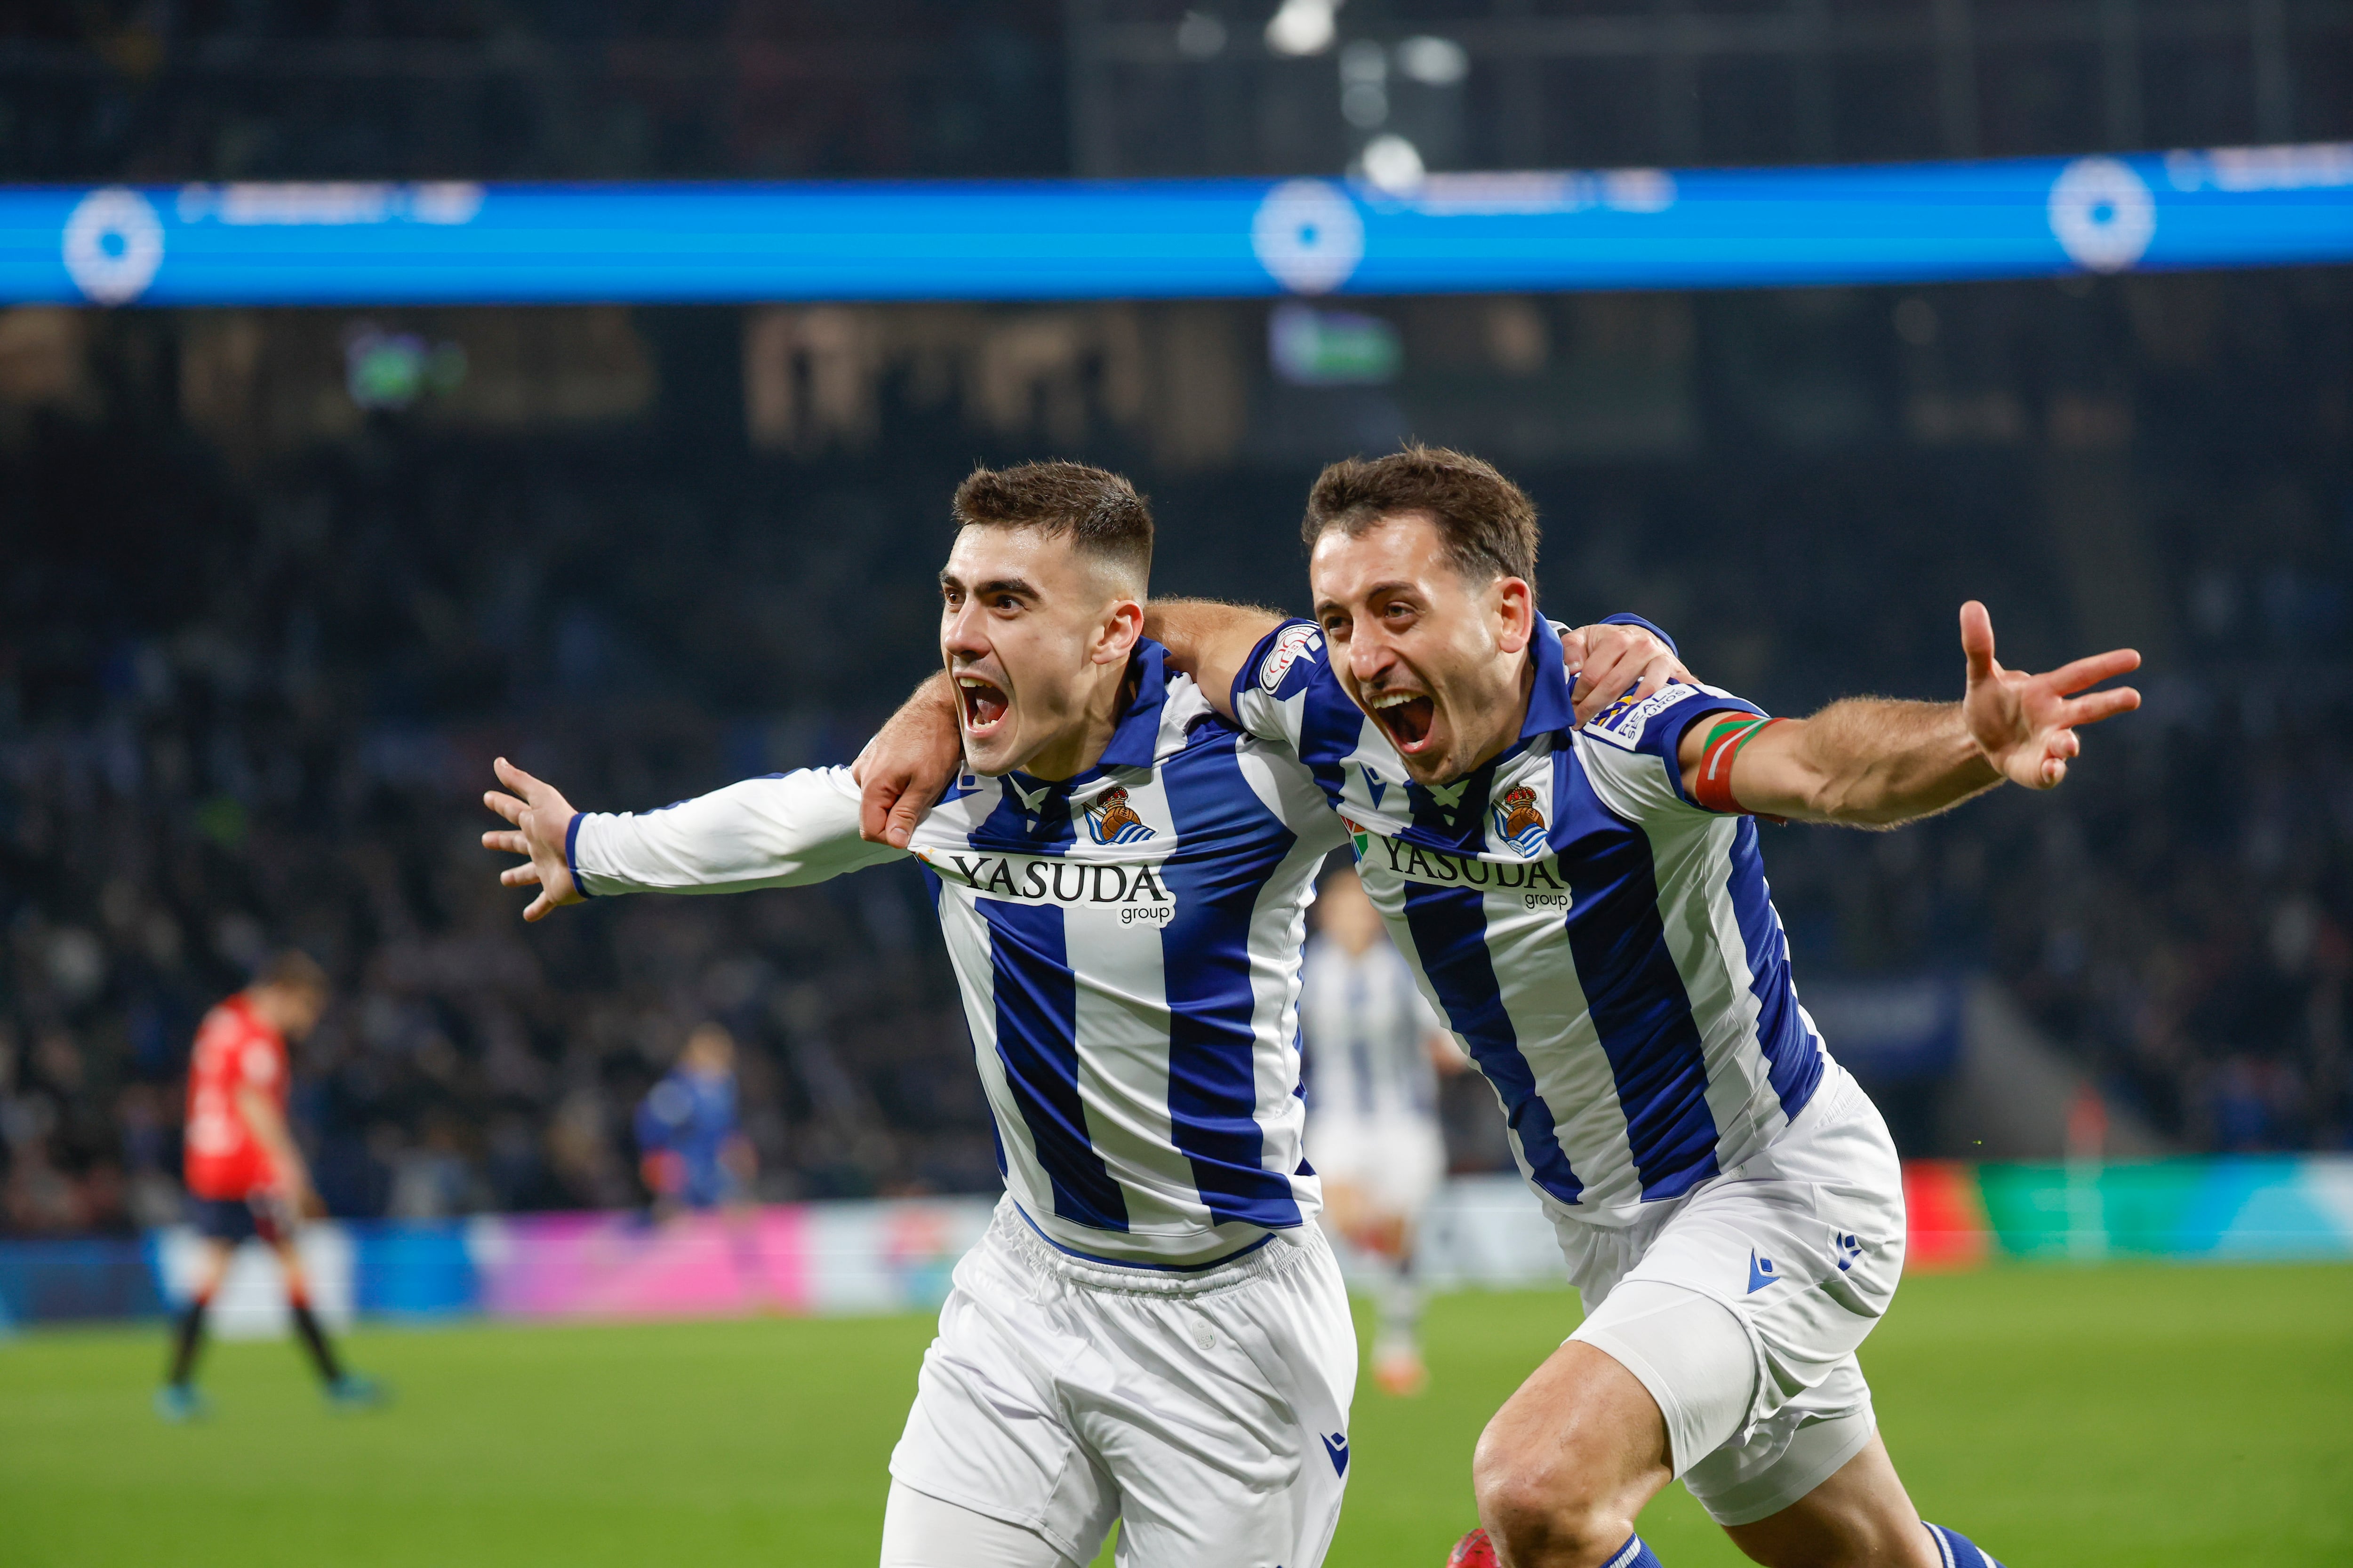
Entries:
[[1577, 729], [1560, 628], [1539, 621], [1520, 738], [1466, 778], [1407, 780], [1322, 632], [1289, 621], [1235, 679], [1344, 816], [1358, 875], [1504, 1103], [1520, 1171], [1565, 1218], [1628, 1225], [1767, 1147], [1828, 1070], [1798, 1006], [1755, 820], [1682, 792], [1708, 712], [1671, 684]]

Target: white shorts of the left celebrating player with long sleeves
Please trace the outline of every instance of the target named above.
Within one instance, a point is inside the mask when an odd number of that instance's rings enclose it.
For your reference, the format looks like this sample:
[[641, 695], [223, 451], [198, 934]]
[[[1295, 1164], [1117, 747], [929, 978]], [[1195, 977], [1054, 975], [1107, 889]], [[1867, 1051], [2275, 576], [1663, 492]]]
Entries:
[[1120, 1568], [1315, 1568], [1348, 1481], [1355, 1326], [1315, 1225], [1202, 1272], [1054, 1248], [1012, 1199], [962, 1262], [901, 1483]]

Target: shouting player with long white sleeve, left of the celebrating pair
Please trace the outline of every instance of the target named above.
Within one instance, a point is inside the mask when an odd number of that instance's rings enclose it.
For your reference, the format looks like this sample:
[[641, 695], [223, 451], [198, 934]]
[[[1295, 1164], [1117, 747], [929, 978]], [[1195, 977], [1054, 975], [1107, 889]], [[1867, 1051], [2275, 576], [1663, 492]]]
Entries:
[[1315, 778], [1144, 637], [1153, 522], [1118, 475], [955, 491], [932, 696], [958, 755], [899, 844], [847, 769], [584, 816], [499, 762], [525, 919], [584, 896], [821, 882], [913, 853], [995, 1117], [1005, 1199], [958, 1265], [892, 1453], [885, 1568], [1322, 1561], [1355, 1331], [1301, 1159]]

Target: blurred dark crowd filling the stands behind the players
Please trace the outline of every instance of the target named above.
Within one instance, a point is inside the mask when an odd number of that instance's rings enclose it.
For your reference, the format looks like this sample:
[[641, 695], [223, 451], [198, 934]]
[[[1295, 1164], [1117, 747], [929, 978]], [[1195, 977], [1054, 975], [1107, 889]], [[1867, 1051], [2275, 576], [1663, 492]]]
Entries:
[[[438, 411], [433, 393], [367, 404], [367, 355], [400, 322], [261, 313], [240, 317], [259, 369], [235, 397], [261, 409], [242, 444], [188, 407], [226, 395], [219, 317], [5, 315], [7, 1222], [174, 1213], [188, 1037], [278, 943], [339, 983], [299, 1053], [296, 1121], [341, 1213], [642, 1201], [631, 1110], [704, 1020], [744, 1041], [765, 1197], [988, 1187], [911, 867], [525, 926], [478, 846], [492, 757], [586, 809], [847, 762], [934, 658], [929, 576], [972, 461], [1122, 465], [1155, 496], [1160, 590], [1299, 607], [1315, 461], [1417, 425], [1537, 494], [1553, 616], [1642, 611], [1779, 712], [1953, 696], [1969, 595], [2017, 665], [2141, 646], [2148, 708], [2092, 733], [2057, 795], [1894, 835], [1767, 832], [1800, 985], [1993, 973], [2181, 1147], [2339, 1147], [2348, 289], [2292, 273], [1614, 315], [1506, 301], [1544, 353], [1485, 374], [1419, 346], [1494, 336], [1497, 301], [1374, 301], [1362, 320], [1393, 324], [1400, 364], [1344, 388], [1249, 357], [1264, 306], [1136, 313], [1120, 331], [1144, 378], [1179, 341], [1165, 315], [1186, 353], [1224, 331], [1212, 381], [1240, 407], [1195, 418], [1252, 435], [1221, 451], [1169, 449], [1085, 334], [1028, 397], [991, 390], [991, 343], [1059, 331], [1035, 310], [946, 334], [962, 348], [941, 348], [939, 386], [875, 360], [866, 393], [826, 393], [854, 404], [838, 428], [769, 407], [769, 313], [614, 313], [640, 390], [576, 416], [534, 404], [527, 376], [494, 395], [522, 376], [501, 369], [511, 313], [407, 324], [473, 367]], [[842, 315], [875, 341], [946, 331]], [[1626, 320], [1649, 346], [1624, 350], [1621, 425], [1595, 435], [1584, 367], [1621, 353]], [[1497, 388], [1518, 423], [1487, 423]], [[1640, 397], [1657, 409], [1626, 414]], [[318, 428], [271, 414], [313, 404], [334, 409]], [[1461, 1093], [1457, 1161], [1492, 1164], [1492, 1105]]]

